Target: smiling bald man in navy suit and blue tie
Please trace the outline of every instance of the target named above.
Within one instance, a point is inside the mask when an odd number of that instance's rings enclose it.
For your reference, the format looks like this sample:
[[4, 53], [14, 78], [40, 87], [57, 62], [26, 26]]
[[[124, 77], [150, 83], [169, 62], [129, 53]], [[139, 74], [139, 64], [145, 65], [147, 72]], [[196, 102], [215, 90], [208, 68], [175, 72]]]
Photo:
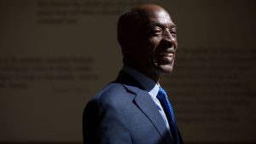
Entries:
[[85, 107], [84, 143], [183, 143], [159, 84], [161, 74], [172, 72], [176, 31], [170, 15], [158, 5], [143, 4], [120, 16], [118, 40], [124, 66], [118, 78]]

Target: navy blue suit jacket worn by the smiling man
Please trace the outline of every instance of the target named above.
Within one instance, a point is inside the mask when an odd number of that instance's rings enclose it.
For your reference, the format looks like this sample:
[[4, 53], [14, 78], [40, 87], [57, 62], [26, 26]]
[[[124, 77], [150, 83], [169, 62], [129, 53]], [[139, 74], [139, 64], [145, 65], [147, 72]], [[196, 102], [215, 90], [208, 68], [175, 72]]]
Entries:
[[87, 103], [83, 135], [85, 144], [174, 144], [151, 96], [125, 72]]

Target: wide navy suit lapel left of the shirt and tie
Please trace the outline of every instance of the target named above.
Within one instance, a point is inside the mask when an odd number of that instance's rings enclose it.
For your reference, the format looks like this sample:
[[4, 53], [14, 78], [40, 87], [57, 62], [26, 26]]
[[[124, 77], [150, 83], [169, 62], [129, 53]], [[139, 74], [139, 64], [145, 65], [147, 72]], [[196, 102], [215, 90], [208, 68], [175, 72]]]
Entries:
[[158, 130], [162, 138], [166, 141], [166, 144], [172, 143], [172, 137], [166, 129], [166, 124], [148, 92], [143, 90], [143, 87], [125, 72], [119, 73], [116, 82], [123, 84], [128, 91], [136, 95], [134, 102], [137, 107], [154, 124], [155, 129]]

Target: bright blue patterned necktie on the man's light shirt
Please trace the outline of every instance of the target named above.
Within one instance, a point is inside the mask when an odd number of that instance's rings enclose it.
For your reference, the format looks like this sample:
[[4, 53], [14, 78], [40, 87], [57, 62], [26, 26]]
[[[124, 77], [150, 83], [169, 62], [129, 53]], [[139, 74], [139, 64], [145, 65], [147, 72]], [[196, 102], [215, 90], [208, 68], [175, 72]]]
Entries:
[[172, 109], [172, 105], [171, 105], [170, 101], [168, 100], [166, 91], [160, 87], [159, 92], [156, 95], [156, 98], [160, 101], [160, 104], [166, 113], [166, 118], [168, 119], [170, 129], [171, 129], [172, 139], [173, 139], [173, 141], [175, 141], [175, 143], [179, 144], [180, 142], [179, 142], [178, 134], [177, 134], [177, 124], [175, 121], [175, 116], [174, 116], [174, 112]]

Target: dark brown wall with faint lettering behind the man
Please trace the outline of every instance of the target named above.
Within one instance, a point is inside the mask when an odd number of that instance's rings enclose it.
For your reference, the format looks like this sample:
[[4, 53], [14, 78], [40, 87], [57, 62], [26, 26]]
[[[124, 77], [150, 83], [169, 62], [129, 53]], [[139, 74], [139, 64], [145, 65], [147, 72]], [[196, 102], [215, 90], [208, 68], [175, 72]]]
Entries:
[[82, 143], [82, 113], [122, 66], [116, 21], [158, 3], [177, 25], [161, 78], [186, 143], [256, 143], [253, 0], [0, 2], [0, 143]]

